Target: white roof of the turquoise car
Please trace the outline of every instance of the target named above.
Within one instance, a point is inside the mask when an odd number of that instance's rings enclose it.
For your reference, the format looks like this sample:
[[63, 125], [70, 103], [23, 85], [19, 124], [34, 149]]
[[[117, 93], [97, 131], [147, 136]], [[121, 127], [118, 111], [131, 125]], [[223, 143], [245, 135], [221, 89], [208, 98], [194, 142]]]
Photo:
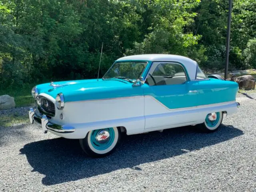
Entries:
[[116, 61], [127, 61], [127, 60], [137, 60], [137, 61], [153, 61], [153, 62], [180, 62], [182, 63], [186, 70], [188, 71], [188, 75], [190, 80], [195, 80], [196, 78], [196, 69], [197, 62], [180, 55], [169, 55], [169, 54], [142, 54], [142, 55], [132, 55], [119, 58]]

